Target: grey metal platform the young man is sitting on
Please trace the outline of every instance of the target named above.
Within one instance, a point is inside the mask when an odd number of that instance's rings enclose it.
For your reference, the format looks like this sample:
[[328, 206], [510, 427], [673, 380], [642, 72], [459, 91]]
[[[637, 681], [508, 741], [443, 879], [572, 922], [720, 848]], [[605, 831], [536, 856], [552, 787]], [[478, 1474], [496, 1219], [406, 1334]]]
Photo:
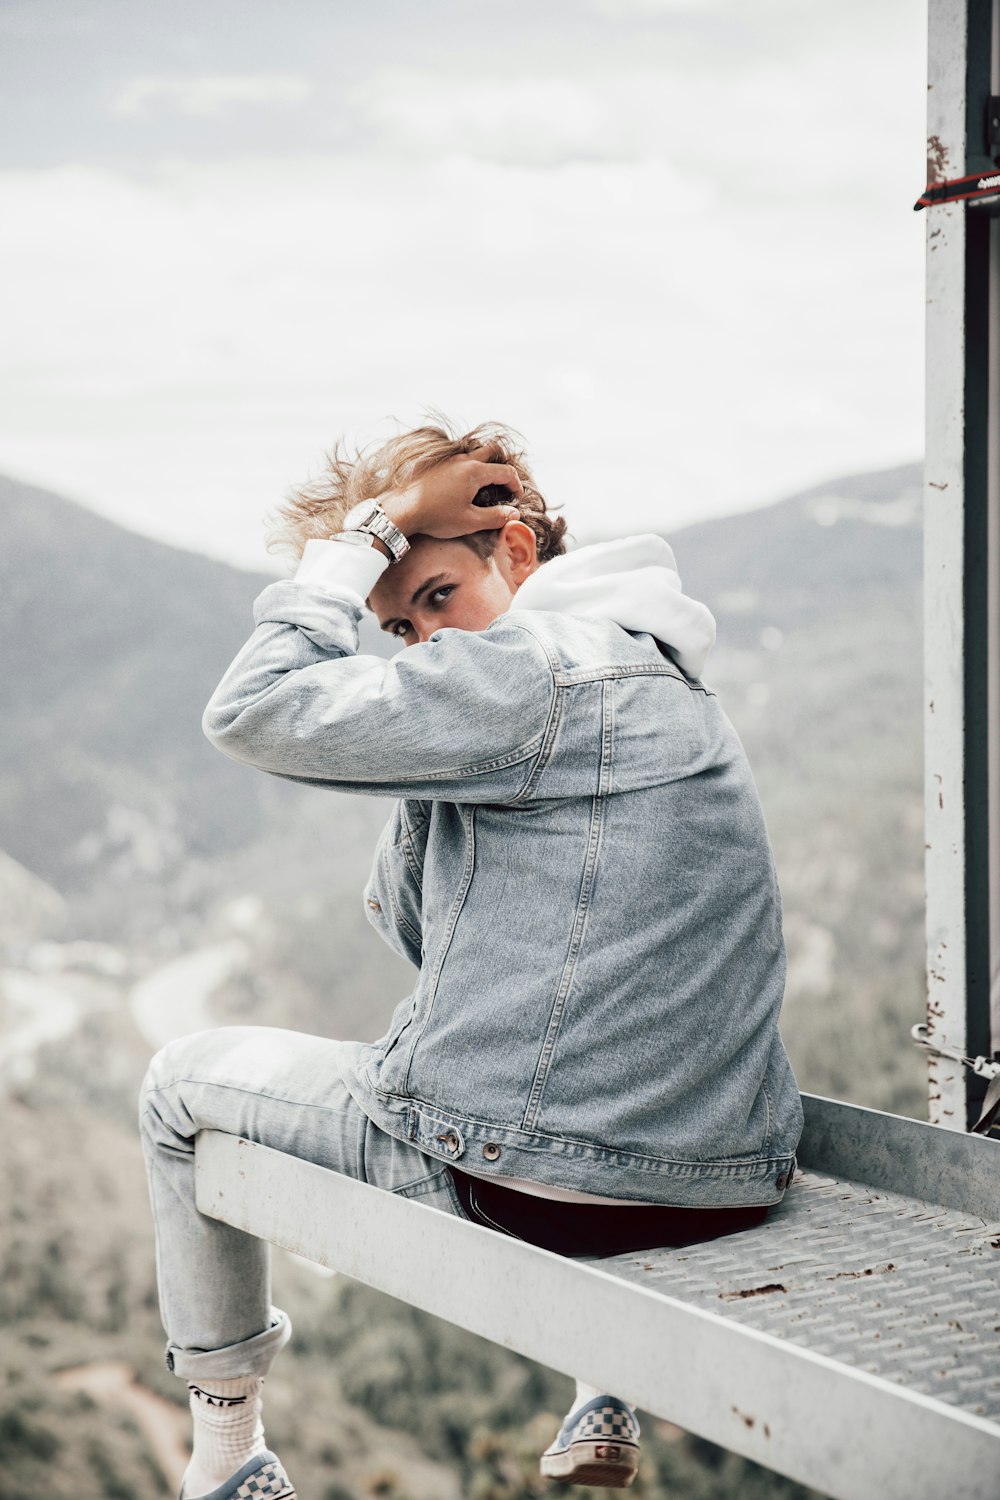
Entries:
[[835, 1500], [1000, 1497], [1000, 1143], [804, 1096], [756, 1230], [567, 1260], [231, 1136], [204, 1214]]

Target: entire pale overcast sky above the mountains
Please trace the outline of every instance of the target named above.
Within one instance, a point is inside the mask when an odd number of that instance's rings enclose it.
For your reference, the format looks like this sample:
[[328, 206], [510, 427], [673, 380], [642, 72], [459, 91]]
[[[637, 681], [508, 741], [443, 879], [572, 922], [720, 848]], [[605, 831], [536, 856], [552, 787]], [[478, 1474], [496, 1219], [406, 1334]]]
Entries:
[[[0, 471], [267, 566], [334, 438], [577, 538], [919, 458], [922, 0], [0, 0]], [[273, 566], [273, 564], [271, 564]]]

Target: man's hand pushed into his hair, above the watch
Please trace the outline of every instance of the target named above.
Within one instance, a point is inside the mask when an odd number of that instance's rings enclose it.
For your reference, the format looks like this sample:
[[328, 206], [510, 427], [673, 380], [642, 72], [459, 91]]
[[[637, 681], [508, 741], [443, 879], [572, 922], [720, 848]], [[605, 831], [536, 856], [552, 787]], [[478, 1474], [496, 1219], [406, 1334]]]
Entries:
[[[492, 462], [490, 447], [474, 448], [444, 459], [426, 470], [403, 490], [379, 495], [378, 502], [405, 537], [465, 537], [472, 531], [496, 531], [519, 514], [511, 504], [477, 506], [475, 496], [487, 486], [501, 486], [523, 495], [517, 471], [510, 464]], [[490, 495], [490, 500], [493, 498]]]

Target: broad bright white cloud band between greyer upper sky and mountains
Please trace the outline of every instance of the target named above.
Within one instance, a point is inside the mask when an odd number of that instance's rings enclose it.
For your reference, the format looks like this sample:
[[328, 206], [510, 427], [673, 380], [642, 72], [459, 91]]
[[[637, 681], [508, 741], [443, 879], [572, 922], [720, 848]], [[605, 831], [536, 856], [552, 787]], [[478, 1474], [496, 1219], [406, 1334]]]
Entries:
[[919, 234], [673, 188], [657, 160], [3, 174], [0, 470], [259, 564], [336, 435], [432, 404], [520, 428], [577, 536], [915, 456]]

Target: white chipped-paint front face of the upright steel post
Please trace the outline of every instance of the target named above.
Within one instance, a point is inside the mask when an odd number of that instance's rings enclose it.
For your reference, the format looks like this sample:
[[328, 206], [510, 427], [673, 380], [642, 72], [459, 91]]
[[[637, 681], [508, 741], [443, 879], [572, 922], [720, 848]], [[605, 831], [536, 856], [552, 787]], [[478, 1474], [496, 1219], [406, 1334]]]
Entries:
[[[966, 170], [967, 0], [928, 6], [928, 182]], [[927, 1024], [969, 1052], [966, 1024], [964, 702], [966, 207], [927, 210], [924, 750]], [[928, 1054], [934, 1124], [967, 1128], [966, 1074]]]

